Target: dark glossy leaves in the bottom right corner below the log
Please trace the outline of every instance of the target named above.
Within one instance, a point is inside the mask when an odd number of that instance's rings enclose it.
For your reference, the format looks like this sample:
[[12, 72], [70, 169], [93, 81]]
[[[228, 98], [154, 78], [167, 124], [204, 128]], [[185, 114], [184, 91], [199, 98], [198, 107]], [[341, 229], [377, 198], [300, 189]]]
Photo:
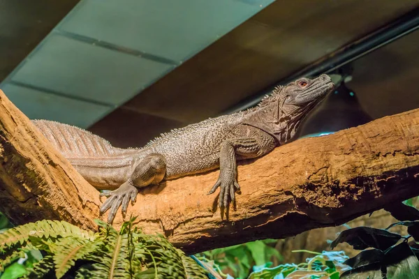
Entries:
[[[341, 278], [419, 278], [419, 250], [409, 246], [409, 239], [419, 240], [419, 211], [406, 204], [387, 206], [392, 216], [401, 222], [390, 225], [387, 229], [356, 227], [342, 232], [331, 247], [338, 243], [349, 243], [353, 248], [362, 250], [358, 255], [347, 259], [344, 264], [352, 267], [341, 274]], [[408, 236], [401, 236], [388, 229], [395, 225], [407, 227]], [[367, 250], [365, 250], [367, 249]]]

